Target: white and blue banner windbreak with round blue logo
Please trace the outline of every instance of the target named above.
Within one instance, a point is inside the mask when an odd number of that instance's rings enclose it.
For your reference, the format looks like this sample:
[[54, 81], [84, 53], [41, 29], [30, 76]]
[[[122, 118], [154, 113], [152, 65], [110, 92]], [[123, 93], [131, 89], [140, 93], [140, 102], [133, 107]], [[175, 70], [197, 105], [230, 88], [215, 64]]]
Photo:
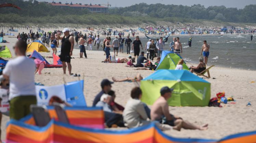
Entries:
[[54, 86], [36, 86], [37, 104], [48, 105], [52, 96], [58, 96], [72, 106], [86, 106], [84, 80]]

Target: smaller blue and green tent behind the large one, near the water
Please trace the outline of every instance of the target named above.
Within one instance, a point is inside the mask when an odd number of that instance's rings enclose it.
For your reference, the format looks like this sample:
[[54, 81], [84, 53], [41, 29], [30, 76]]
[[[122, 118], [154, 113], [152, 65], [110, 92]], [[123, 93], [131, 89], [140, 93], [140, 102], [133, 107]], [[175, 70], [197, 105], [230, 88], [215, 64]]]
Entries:
[[[161, 60], [158, 64], [158, 66], [156, 67], [156, 70], [158, 70], [158, 69], [175, 69], [180, 59], [182, 59], [182, 57], [180, 55], [178, 55], [172, 51], [164, 50], [162, 52]], [[182, 66], [183, 66], [183, 69], [189, 70], [189, 68], [185, 62], [183, 63]]]

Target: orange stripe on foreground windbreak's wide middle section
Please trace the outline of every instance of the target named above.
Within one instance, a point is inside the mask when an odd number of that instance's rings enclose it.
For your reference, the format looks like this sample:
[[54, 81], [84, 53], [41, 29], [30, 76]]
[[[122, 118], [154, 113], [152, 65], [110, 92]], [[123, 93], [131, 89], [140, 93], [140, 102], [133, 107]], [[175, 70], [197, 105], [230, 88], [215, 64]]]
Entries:
[[[54, 125], [54, 134], [84, 140], [86, 142], [139, 142], [149, 138], [153, 138], [154, 127], [129, 134], [108, 134], [108, 133], [95, 133], [88, 131], [80, 131], [63, 126]], [[102, 141], [104, 139], [104, 141]]]

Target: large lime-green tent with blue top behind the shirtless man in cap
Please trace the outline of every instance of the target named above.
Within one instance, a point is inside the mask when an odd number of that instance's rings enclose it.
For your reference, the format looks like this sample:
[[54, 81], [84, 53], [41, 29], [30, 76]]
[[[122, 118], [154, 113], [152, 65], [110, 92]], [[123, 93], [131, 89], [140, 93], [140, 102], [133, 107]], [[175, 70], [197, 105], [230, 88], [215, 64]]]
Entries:
[[153, 105], [161, 96], [164, 86], [173, 88], [168, 100], [170, 106], [208, 106], [210, 100], [210, 83], [190, 73], [188, 70], [160, 69], [141, 81], [141, 100]]

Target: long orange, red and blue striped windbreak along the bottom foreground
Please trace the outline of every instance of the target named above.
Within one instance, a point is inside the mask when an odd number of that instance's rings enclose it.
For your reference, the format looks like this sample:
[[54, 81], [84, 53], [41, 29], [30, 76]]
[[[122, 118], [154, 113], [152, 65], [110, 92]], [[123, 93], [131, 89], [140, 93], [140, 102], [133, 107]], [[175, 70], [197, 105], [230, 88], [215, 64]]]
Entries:
[[104, 130], [77, 127], [52, 120], [46, 127], [28, 125], [11, 120], [7, 124], [7, 142], [109, 142], [109, 143], [176, 143], [176, 142], [220, 142], [253, 143], [256, 131], [240, 133], [221, 140], [173, 138], [164, 134], [154, 123], [128, 130]]

